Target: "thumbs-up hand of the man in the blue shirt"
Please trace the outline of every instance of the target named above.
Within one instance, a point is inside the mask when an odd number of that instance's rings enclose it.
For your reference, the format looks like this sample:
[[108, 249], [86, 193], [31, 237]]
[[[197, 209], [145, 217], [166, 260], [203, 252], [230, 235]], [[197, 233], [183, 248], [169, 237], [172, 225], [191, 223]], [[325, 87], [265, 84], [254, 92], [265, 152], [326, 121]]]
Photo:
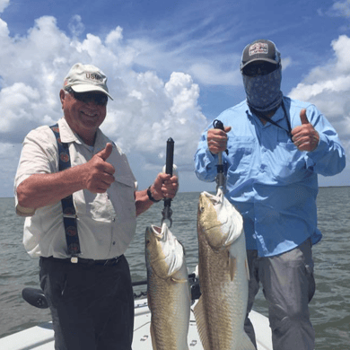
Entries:
[[293, 143], [300, 151], [312, 152], [319, 144], [319, 133], [312, 127], [306, 116], [306, 109], [300, 112], [302, 125], [292, 130]]

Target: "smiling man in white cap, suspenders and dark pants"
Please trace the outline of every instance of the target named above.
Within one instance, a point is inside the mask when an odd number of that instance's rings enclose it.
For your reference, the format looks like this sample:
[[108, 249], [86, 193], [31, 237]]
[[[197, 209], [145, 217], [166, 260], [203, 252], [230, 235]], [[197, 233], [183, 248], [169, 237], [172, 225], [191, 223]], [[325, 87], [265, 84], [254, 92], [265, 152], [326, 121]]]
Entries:
[[95, 66], [74, 65], [59, 92], [64, 118], [25, 137], [15, 177], [23, 242], [39, 257], [40, 285], [59, 350], [130, 350], [134, 299], [124, 257], [136, 215], [174, 197], [177, 177], [136, 190], [127, 157], [102, 134], [110, 97]]

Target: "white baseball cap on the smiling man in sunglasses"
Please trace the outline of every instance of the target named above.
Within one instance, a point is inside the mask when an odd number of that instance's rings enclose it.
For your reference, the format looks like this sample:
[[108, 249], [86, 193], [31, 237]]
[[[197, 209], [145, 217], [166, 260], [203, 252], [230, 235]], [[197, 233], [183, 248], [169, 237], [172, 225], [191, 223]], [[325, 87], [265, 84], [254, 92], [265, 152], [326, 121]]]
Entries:
[[64, 89], [71, 87], [74, 92], [103, 92], [109, 99], [107, 76], [97, 67], [76, 63], [66, 75]]

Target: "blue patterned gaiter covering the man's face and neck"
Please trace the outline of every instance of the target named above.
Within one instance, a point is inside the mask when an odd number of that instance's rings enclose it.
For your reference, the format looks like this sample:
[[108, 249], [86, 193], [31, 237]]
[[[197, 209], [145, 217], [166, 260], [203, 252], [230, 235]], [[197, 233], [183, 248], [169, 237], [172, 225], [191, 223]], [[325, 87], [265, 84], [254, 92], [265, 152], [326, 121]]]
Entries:
[[267, 75], [242, 75], [249, 107], [260, 112], [267, 112], [279, 107], [283, 98], [283, 93], [281, 92], [281, 66]]

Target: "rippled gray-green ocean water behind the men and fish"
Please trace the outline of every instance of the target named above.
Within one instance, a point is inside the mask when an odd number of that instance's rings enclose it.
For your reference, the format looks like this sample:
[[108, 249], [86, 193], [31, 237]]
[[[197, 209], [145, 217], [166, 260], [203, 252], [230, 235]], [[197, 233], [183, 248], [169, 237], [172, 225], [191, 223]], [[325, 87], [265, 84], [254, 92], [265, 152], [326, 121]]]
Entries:
[[[185, 246], [189, 272], [197, 266], [198, 195], [179, 193], [171, 203], [171, 232]], [[346, 350], [350, 349], [350, 188], [320, 188], [318, 215], [323, 239], [313, 247], [317, 287], [311, 301], [316, 349]], [[161, 225], [161, 220], [162, 202], [137, 219], [136, 236], [126, 254], [134, 281], [146, 278], [145, 227]], [[14, 213], [13, 198], [0, 198], [0, 337], [50, 319], [48, 310], [22, 300], [23, 288], [39, 287], [38, 260], [23, 249], [22, 224], [23, 219]], [[135, 292], [145, 292], [145, 285]], [[254, 309], [267, 315], [261, 292]]]

